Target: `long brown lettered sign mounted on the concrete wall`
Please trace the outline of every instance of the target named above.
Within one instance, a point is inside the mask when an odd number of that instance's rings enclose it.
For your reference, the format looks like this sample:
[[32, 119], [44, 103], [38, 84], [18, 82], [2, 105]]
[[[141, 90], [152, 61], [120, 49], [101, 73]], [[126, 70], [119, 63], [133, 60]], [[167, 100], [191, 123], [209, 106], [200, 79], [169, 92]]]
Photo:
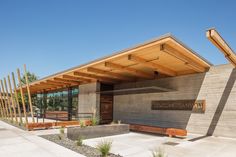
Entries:
[[193, 113], [204, 113], [205, 100], [160, 100], [152, 101], [152, 110], [185, 110]]

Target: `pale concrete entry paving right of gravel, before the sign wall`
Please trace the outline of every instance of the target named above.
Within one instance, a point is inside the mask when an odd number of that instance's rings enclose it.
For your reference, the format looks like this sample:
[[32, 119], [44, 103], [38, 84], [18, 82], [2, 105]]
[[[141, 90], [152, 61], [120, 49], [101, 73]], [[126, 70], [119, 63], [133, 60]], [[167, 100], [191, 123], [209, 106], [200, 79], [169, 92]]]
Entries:
[[[152, 151], [161, 148], [168, 157], [235, 157], [236, 139], [203, 137], [190, 134], [186, 139], [129, 133], [85, 140], [92, 147], [103, 140], [113, 141], [111, 152], [124, 157], [152, 157]], [[173, 145], [169, 145], [173, 144]]]

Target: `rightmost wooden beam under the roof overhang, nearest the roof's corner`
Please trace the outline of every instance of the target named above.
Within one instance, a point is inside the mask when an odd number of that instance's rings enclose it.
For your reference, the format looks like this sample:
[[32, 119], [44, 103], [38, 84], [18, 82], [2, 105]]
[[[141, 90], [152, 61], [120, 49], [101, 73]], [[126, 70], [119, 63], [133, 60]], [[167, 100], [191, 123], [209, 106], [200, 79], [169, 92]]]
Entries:
[[181, 52], [179, 52], [178, 50], [172, 48], [171, 46], [167, 45], [167, 44], [162, 44], [160, 47], [160, 50], [163, 52], [166, 52], [167, 54], [179, 59], [180, 61], [184, 62], [184, 64], [186, 66], [188, 66], [189, 68], [193, 69], [196, 72], [205, 72], [206, 69], [202, 66], [200, 66], [199, 64], [195, 63], [193, 60], [191, 60], [190, 58], [184, 56], [181, 54]]

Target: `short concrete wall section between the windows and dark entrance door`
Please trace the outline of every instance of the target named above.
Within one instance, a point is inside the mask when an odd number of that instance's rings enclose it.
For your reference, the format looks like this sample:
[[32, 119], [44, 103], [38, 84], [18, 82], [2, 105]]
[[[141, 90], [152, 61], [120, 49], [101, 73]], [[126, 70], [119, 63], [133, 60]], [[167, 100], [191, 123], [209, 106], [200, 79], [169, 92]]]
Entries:
[[83, 84], [79, 86], [79, 113], [93, 113], [96, 109], [96, 114], [99, 116], [100, 108], [100, 90], [99, 83]]

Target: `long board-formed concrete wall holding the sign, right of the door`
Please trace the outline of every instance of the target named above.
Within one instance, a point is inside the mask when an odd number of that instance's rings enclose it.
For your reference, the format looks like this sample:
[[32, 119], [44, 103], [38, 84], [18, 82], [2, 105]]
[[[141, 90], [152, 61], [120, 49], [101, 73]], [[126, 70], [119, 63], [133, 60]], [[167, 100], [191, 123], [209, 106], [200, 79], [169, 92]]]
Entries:
[[[171, 92], [114, 96], [114, 119], [126, 123], [185, 128], [188, 132], [236, 137], [236, 69], [213, 66], [206, 73], [126, 83], [115, 89], [161, 86]], [[205, 113], [151, 110], [153, 100], [206, 100]]]

